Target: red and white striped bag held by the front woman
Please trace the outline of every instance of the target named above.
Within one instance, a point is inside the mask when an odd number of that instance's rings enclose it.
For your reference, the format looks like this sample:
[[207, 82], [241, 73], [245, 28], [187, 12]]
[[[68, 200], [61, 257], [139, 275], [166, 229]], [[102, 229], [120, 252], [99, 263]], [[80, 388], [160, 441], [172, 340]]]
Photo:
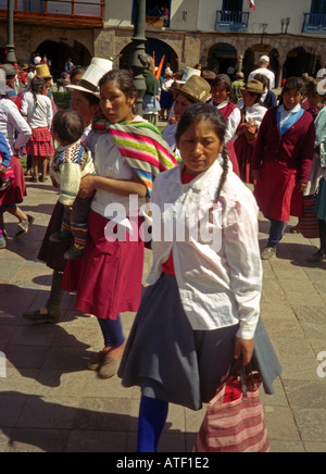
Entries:
[[228, 377], [208, 406], [195, 452], [269, 452], [259, 374]]

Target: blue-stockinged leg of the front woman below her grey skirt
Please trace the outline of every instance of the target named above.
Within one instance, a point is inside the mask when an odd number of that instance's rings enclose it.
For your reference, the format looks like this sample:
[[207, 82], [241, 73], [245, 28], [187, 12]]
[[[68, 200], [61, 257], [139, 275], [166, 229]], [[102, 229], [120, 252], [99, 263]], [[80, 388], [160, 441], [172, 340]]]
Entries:
[[156, 452], [168, 413], [168, 403], [141, 396], [137, 452]]

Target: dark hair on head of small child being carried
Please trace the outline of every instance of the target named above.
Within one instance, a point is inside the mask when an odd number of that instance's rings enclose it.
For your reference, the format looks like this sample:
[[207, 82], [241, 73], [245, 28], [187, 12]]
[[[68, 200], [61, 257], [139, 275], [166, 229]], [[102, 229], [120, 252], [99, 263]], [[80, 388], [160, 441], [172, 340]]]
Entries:
[[71, 109], [60, 109], [52, 121], [53, 132], [63, 144], [74, 144], [84, 134], [82, 116]]

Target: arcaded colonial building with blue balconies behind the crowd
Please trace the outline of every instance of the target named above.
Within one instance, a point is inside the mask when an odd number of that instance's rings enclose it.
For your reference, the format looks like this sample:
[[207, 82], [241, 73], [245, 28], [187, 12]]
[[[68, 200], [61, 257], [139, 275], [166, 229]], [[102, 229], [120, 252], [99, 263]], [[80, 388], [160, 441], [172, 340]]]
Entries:
[[[52, 72], [90, 58], [127, 64], [134, 32], [134, 0], [13, 0], [17, 61], [46, 53]], [[201, 63], [215, 72], [246, 74], [262, 54], [278, 80], [316, 75], [326, 61], [326, 0], [147, 0], [147, 52], [173, 70]], [[7, 4], [0, 0], [0, 53], [7, 45]], [[1, 58], [0, 58], [1, 60]]]

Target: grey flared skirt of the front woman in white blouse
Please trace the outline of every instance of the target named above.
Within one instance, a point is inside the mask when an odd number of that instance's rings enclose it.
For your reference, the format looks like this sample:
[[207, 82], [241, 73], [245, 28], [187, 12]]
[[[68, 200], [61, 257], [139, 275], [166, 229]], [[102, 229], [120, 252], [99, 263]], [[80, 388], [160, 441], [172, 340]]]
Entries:
[[[125, 387], [191, 410], [200, 410], [215, 395], [230, 369], [239, 325], [193, 330], [184, 311], [174, 276], [163, 273], [142, 297], [118, 370]], [[259, 322], [252, 359], [266, 394], [281, 366]]]

